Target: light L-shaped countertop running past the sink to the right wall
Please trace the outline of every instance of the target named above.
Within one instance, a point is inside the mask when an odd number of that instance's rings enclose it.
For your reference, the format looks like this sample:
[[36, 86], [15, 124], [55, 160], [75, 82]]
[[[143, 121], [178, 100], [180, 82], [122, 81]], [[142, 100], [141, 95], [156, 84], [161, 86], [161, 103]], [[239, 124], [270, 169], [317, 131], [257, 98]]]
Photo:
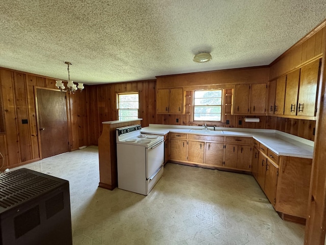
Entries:
[[212, 127], [208, 127], [210, 131], [205, 132], [202, 129], [203, 127], [196, 126], [150, 124], [149, 127], [142, 129], [142, 133], [164, 135], [169, 132], [177, 132], [202, 135], [253, 137], [279, 156], [291, 156], [310, 159], [312, 159], [313, 156], [313, 141], [287, 134], [278, 130], [215, 128], [214, 131]]

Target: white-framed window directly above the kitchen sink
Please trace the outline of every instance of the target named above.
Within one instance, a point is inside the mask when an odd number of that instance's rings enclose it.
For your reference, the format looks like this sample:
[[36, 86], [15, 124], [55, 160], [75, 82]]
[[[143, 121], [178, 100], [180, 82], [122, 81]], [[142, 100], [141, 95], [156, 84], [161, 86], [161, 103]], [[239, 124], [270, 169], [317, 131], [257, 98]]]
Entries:
[[222, 89], [194, 91], [194, 121], [222, 120]]

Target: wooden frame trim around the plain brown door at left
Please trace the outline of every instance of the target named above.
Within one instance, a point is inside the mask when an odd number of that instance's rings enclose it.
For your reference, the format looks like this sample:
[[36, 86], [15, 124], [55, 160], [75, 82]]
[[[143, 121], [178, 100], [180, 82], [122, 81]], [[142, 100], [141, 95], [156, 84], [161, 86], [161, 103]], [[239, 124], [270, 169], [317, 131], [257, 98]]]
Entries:
[[[43, 90], [52, 90], [52, 91], [58, 91], [61, 92], [59, 89], [55, 89], [55, 88], [44, 88], [44, 87], [39, 87], [39, 86], [34, 86], [34, 98], [35, 98], [35, 110], [36, 110], [36, 127], [37, 127], [37, 140], [38, 140], [38, 144], [39, 144], [39, 153], [40, 153], [40, 160], [43, 159], [42, 156], [42, 145], [41, 145], [41, 134], [40, 134], [40, 120], [39, 120], [39, 108], [38, 108], [38, 100], [37, 100], [37, 89], [43, 89]], [[65, 93], [65, 99], [66, 99], [66, 113], [67, 113], [67, 127], [68, 127], [68, 140], [69, 140], [69, 144], [68, 144], [68, 149], [69, 152], [71, 152], [71, 117], [70, 117], [70, 103], [69, 103], [69, 98], [70, 95], [68, 94], [68, 92]], [[68, 96], [67, 96], [68, 95]]]

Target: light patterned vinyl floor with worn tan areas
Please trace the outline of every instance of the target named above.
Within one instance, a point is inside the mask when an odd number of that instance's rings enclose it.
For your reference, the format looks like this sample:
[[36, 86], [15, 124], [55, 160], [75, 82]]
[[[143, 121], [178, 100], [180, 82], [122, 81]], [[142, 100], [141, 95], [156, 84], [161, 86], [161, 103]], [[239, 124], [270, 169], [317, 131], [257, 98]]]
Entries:
[[74, 245], [303, 244], [249, 175], [167, 163], [145, 197], [98, 188], [95, 146], [22, 167], [69, 180]]

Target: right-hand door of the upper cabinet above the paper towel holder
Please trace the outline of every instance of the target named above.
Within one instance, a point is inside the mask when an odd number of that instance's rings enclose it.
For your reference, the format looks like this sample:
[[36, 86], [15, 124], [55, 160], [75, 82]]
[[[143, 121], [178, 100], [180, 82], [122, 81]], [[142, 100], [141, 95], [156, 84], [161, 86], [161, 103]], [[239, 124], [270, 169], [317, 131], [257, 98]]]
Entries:
[[250, 113], [264, 114], [266, 112], [266, 83], [252, 84], [250, 95]]

